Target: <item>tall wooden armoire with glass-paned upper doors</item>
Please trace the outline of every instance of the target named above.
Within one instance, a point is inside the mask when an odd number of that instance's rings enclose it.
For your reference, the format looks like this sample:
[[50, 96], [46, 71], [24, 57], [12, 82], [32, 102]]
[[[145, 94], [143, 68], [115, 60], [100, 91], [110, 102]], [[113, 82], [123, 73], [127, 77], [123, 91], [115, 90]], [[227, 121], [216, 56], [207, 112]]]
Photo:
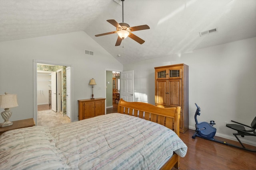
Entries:
[[188, 130], [188, 65], [155, 67], [155, 103], [158, 107], [180, 106], [180, 132]]

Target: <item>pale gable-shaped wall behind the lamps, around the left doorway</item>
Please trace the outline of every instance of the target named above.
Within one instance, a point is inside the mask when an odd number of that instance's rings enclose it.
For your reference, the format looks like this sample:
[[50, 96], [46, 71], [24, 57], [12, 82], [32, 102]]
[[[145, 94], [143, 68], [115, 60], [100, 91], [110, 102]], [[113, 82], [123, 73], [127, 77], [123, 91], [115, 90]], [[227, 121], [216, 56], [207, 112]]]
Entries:
[[[85, 49], [94, 51], [94, 56], [85, 55]], [[123, 69], [84, 31], [0, 42], [0, 94], [17, 94], [19, 105], [11, 108], [10, 121], [33, 117], [33, 59], [72, 64], [74, 120], [78, 120], [77, 100], [91, 97], [90, 79], [97, 84], [94, 98], [104, 98], [105, 69]]]

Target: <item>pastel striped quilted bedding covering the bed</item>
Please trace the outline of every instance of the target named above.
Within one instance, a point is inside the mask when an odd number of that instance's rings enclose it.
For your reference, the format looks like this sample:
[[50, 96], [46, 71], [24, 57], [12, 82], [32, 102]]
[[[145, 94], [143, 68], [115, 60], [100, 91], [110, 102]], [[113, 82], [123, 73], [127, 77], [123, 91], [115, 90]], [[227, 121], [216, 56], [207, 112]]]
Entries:
[[58, 127], [28, 127], [0, 136], [2, 170], [154, 170], [187, 147], [170, 129], [111, 113]]

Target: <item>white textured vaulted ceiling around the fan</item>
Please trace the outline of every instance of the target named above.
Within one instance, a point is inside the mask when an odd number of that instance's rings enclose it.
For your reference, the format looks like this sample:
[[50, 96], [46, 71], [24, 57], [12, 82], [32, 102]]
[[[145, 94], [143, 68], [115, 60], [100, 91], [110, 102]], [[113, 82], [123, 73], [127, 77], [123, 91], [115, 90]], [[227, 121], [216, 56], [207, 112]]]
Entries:
[[[128, 37], [115, 47], [116, 34], [94, 35], [116, 30], [106, 20], [122, 22], [120, 4], [121, 0], [0, 0], [0, 41], [85, 31], [125, 64], [256, 37], [256, 0], [125, 0], [124, 22], [150, 29], [133, 32], [144, 44]], [[216, 27], [216, 33], [199, 36]]]

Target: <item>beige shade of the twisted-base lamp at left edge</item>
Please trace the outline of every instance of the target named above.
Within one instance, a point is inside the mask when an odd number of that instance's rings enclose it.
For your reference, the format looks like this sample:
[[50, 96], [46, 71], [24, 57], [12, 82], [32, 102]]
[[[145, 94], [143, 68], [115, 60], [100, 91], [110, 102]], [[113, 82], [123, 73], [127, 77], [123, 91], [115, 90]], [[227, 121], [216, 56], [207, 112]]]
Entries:
[[2, 94], [0, 95], [0, 108], [17, 107], [17, 95], [16, 94]]

